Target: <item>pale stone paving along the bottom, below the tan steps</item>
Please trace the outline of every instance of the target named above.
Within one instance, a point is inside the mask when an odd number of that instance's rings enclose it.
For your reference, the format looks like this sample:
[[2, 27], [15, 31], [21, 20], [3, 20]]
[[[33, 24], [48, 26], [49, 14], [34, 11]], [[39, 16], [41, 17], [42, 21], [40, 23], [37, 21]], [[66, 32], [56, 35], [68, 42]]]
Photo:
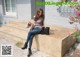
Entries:
[[[1, 38], [0, 37], [0, 57], [3, 57], [1, 56], [1, 45], [12, 45], [13, 47], [13, 55], [11, 57], [27, 57], [27, 54], [28, 54], [28, 50], [22, 50], [21, 48], [15, 46], [15, 41], [12, 41], [10, 39], [6, 39], [6, 38]], [[35, 49], [32, 50], [32, 56], [31, 57], [51, 57], [50, 55], [47, 55], [43, 52], [40, 52], [40, 51], [36, 51]], [[9, 56], [6, 56], [6, 57], [9, 57]]]

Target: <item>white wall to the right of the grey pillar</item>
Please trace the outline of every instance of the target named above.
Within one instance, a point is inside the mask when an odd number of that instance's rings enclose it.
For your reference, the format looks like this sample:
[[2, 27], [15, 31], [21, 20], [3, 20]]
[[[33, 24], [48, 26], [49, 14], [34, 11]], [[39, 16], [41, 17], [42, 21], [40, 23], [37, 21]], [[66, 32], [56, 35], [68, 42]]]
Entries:
[[[56, 0], [53, 0], [53, 2], [54, 1]], [[58, 8], [57, 6], [45, 5], [45, 24], [74, 28], [75, 25], [69, 24], [70, 21], [69, 18], [61, 16], [57, 11], [57, 8]], [[80, 28], [80, 24], [78, 24], [78, 27]]]

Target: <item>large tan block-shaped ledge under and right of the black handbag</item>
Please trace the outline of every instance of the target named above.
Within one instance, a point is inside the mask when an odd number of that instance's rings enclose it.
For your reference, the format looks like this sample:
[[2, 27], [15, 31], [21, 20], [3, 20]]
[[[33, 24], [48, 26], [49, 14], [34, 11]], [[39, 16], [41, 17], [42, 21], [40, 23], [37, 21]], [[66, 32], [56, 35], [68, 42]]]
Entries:
[[33, 41], [33, 48], [50, 54], [53, 57], [63, 57], [76, 41], [72, 36], [75, 30], [59, 26], [52, 26], [50, 28], [50, 35], [36, 35]]

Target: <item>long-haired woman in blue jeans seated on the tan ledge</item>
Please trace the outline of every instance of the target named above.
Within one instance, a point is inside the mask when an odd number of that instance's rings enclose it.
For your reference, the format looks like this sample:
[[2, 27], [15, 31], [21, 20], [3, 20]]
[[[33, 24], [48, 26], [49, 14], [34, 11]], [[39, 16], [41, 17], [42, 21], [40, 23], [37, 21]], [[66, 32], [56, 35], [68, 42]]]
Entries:
[[29, 53], [28, 56], [30, 56], [32, 54], [31, 52], [31, 46], [32, 46], [32, 41], [33, 41], [33, 37], [36, 34], [39, 34], [42, 30], [42, 27], [44, 26], [44, 13], [43, 13], [43, 9], [39, 9], [36, 12], [36, 16], [33, 19], [33, 22], [29, 22], [28, 23], [28, 27], [32, 26], [31, 30], [28, 33], [28, 37], [27, 40], [24, 44], [24, 47], [22, 49], [26, 49], [28, 46], [28, 42], [29, 42]]

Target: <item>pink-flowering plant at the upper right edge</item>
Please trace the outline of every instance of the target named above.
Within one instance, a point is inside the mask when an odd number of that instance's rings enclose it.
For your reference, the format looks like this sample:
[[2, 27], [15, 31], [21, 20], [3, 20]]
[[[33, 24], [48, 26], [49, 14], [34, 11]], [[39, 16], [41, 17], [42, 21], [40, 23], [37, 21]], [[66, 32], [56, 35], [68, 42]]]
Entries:
[[80, 5], [77, 6], [71, 6], [71, 8], [74, 8], [74, 12], [76, 16], [70, 16], [70, 24], [73, 24], [74, 22], [77, 22], [80, 24]]

